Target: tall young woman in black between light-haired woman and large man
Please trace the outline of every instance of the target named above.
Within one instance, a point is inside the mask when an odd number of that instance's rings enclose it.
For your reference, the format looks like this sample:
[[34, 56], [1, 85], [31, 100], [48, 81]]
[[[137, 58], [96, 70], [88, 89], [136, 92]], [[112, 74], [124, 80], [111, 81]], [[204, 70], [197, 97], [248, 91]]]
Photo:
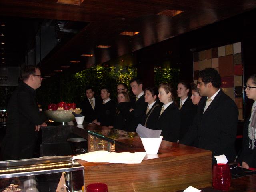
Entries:
[[190, 91], [190, 84], [181, 81], [177, 86], [177, 94], [180, 98], [178, 104], [181, 114], [180, 124], [180, 139], [188, 132], [189, 127], [192, 125], [194, 117], [197, 112], [197, 106], [192, 103], [188, 97]]

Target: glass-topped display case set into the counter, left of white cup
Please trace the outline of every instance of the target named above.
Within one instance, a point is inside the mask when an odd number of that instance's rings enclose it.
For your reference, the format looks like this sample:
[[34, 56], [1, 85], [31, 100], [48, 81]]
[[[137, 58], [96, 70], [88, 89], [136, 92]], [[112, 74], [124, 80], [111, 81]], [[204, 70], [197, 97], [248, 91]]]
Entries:
[[116, 151], [116, 140], [138, 137], [135, 132], [127, 132], [119, 129], [88, 130], [88, 152], [92, 151]]

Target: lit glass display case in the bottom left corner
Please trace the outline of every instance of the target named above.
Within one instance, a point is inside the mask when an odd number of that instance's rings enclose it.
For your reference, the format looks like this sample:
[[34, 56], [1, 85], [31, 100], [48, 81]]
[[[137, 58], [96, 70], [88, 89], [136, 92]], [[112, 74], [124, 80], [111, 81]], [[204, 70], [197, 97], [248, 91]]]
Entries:
[[0, 192], [82, 192], [83, 186], [84, 167], [71, 156], [0, 162]]

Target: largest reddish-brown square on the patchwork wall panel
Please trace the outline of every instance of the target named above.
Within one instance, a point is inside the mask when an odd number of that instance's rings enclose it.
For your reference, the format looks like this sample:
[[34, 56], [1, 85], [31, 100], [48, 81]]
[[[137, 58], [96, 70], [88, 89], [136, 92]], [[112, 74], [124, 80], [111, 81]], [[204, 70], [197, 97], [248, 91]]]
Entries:
[[233, 55], [219, 57], [219, 71], [221, 77], [234, 75]]

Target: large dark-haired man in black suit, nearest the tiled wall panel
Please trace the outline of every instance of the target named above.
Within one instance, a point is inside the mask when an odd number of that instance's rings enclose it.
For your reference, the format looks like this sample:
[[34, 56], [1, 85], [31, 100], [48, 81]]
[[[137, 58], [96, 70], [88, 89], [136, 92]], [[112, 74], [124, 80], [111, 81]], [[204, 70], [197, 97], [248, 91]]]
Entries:
[[213, 68], [199, 71], [198, 89], [201, 96], [198, 113], [181, 144], [196, 144], [212, 151], [212, 156], [224, 154], [228, 161], [236, 156], [235, 140], [238, 109], [235, 102], [220, 89], [221, 80]]

